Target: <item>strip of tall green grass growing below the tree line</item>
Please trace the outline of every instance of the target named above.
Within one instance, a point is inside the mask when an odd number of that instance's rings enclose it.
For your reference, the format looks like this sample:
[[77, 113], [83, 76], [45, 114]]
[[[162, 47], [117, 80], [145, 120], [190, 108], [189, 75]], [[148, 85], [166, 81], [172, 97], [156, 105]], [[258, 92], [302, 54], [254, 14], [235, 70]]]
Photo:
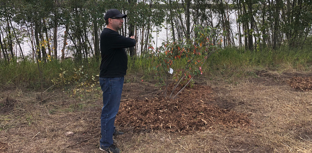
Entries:
[[[264, 49], [262, 52], [246, 51], [242, 48], [226, 48], [212, 54], [203, 68], [206, 70], [205, 75], [226, 75], [228, 77], [240, 77], [259, 69], [273, 69], [285, 71], [296, 69], [300, 71], [311, 71], [312, 52], [310, 48], [289, 49], [281, 47], [278, 50]], [[145, 79], [153, 80], [155, 76], [155, 62], [144, 55], [129, 58], [128, 74], [140, 73]], [[42, 70], [44, 85], [53, 85], [52, 79], [58, 78], [59, 74], [67, 71], [66, 75], [72, 76], [74, 69], [83, 67], [84, 74], [88, 77], [96, 76], [100, 72], [100, 59], [89, 59], [86, 61], [65, 60], [60, 62], [54, 60], [51, 62], [39, 64]], [[175, 60], [172, 68], [181, 69], [186, 66], [186, 60]], [[11, 64], [0, 65], [0, 84], [19, 85], [26, 83], [28, 85], [40, 86], [40, 74], [37, 63], [31, 60], [21, 61]], [[71, 82], [75, 84], [76, 82]]]

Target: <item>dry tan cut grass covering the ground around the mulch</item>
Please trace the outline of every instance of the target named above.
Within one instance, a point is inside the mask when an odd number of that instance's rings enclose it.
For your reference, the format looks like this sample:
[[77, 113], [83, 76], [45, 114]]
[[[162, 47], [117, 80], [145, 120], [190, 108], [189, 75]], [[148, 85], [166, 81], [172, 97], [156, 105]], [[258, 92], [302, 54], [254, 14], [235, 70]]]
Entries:
[[[237, 85], [209, 81], [219, 99], [216, 103], [228, 103], [227, 109], [250, 114], [251, 126], [230, 129], [216, 125], [187, 135], [122, 129], [126, 133], [116, 138], [116, 144], [127, 153], [312, 152], [312, 92], [292, 89], [283, 82], [285, 78], [270, 72]], [[129, 96], [132, 90], [141, 90], [125, 88]], [[44, 96], [60, 92], [47, 91]], [[9, 97], [14, 107], [0, 115], [0, 152], [4, 146], [7, 152], [100, 152], [101, 92], [67, 93], [61, 106], [61, 97], [39, 104], [37, 92], [2, 90], [0, 103]], [[66, 137], [67, 131], [75, 135]]]

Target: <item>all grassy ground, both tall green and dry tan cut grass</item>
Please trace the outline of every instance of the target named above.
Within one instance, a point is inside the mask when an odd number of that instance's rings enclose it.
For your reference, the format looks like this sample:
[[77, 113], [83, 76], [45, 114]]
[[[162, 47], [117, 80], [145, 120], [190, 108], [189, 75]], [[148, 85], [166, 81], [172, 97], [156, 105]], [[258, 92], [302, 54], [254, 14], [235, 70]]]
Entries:
[[[312, 152], [312, 92], [287, 84], [291, 77], [312, 75], [311, 54], [308, 49], [283, 48], [218, 52], [203, 66], [206, 72], [195, 82], [212, 88], [211, 102], [220, 109], [248, 114], [250, 125], [229, 128], [214, 124], [188, 134], [133, 132], [130, 127], [117, 127], [125, 134], [116, 137], [115, 143], [129, 153]], [[182, 65], [177, 62], [173, 68]], [[129, 63], [123, 101], [160, 95], [160, 87], [154, 86], [154, 72], [148, 70], [151, 66], [151, 60], [144, 57]], [[54, 61], [40, 67], [42, 94], [35, 63], [0, 67], [0, 152], [100, 152], [99, 61]], [[51, 81], [62, 79], [55, 86]], [[65, 136], [67, 131], [74, 136]]]

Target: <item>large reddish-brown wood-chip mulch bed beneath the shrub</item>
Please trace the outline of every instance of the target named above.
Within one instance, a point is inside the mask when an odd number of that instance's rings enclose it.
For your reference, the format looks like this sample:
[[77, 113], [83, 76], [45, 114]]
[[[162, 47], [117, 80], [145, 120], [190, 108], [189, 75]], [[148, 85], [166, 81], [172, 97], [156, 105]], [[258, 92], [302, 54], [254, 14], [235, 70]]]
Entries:
[[[176, 92], [179, 90], [176, 89]], [[251, 122], [247, 114], [223, 110], [213, 104], [214, 96], [208, 86], [186, 88], [179, 96], [175, 99], [155, 97], [145, 101], [123, 101], [115, 125], [130, 126], [137, 132], [166, 130], [188, 133], [215, 125], [241, 127]]]

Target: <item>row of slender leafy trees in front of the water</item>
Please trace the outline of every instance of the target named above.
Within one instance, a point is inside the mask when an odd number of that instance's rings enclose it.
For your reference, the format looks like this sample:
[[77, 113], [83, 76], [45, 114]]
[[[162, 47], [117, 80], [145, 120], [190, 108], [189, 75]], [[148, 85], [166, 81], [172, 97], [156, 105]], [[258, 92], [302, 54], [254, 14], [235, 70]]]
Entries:
[[78, 61], [100, 57], [111, 8], [128, 15], [120, 34], [137, 38], [130, 57], [149, 53], [151, 33], [161, 28], [165, 41], [176, 42], [196, 37], [194, 25], [209, 26], [221, 29], [223, 47], [262, 51], [303, 47], [312, 27], [310, 0], [0, 0], [0, 61], [64, 60], [67, 50]]

